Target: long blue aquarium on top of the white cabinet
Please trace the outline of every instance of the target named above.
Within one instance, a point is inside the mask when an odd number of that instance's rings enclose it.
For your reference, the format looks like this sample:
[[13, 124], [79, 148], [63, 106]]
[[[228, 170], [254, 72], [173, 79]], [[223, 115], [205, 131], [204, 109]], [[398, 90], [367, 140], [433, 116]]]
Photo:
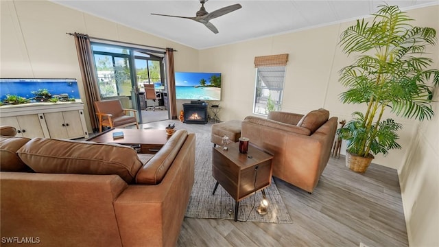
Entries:
[[8, 95], [23, 97], [27, 102], [39, 102], [41, 93], [49, 94], [60, 101], [80, 99], [76, 79], [0, 79], [0, 100], [3, 102]]

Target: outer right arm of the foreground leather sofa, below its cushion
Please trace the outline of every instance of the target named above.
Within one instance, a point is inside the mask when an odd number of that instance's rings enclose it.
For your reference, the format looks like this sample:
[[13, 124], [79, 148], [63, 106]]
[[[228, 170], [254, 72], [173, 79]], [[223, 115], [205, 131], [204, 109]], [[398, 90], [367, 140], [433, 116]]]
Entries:
[[175, 246], [193, 186], [195, 134], [158, 185], [130, 185], [115, 201], [123, 246]]

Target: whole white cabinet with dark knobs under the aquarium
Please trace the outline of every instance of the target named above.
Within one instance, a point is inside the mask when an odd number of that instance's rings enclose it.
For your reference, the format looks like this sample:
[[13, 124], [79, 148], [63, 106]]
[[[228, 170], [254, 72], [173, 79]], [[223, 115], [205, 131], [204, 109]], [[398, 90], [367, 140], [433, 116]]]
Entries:
[[19, 137], [88, 138], [82, 103], [31, 103], [0, 107], [0, 124]]

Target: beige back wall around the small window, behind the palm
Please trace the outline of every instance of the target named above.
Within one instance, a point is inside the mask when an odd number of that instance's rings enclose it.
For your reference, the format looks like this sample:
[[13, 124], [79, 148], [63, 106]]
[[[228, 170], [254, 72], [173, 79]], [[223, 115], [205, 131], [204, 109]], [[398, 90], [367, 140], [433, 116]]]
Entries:
[[[429, 26], [434, 25], [431, 24], [432, 19], [426, 19], [425, 14], [418, 14], [419, 12], [420, 10], [412, 11], [414, 19], [425, 20]], [[437, 14], [435, 7], [426, 8], [422, 12]], [[201, 50], [200, 71], [222, 72], [223, 108], [219, 113], [220, 119], [244, 119], [247, 115], [252, 115], [254, 57], [285, 53], [289, 54], [289, 62], [282, 110], [305, 114], [309, 110], [322, 107], [340, 120], [351, 119], [351, 113], [355, 110], [364, 111], [365, 105], [342, 104], [338, 97], [345, 90], [338, 82], [338, 71], [350, 64], [353, 58], [346, 57], [337, 42], [342, 30], [352, 24], [353, 22], [329, 25]], [[431, 50], [438, 54], [437, 47]], [[405, 153], [410, 150], [410, 141], [418, 122], [390, 113], [384, 117], [392, 117], [403, 124], [403, 130], [399, 132], [399, 143], [403, 149], [392, 150], [385, 158], [377, 155], [373, 162], [399, 169]], [[344, 154], [344, 149], [342, 150]]]

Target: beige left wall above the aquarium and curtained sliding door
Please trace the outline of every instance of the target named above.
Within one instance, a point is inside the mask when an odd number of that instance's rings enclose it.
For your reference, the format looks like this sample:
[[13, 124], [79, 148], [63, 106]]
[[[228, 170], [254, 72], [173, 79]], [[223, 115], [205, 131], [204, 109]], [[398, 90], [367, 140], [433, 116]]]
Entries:
[[[76, 78], [83, 102], [84, 87], [75, 40], [79, 32], [139, 45], [171, 47], [176, 71], [197, 71], [198, 50], [106, 21], [50, 1], [0, 1], [1, 78]], [[91, 124], [86, 111], [88, 130]]]

